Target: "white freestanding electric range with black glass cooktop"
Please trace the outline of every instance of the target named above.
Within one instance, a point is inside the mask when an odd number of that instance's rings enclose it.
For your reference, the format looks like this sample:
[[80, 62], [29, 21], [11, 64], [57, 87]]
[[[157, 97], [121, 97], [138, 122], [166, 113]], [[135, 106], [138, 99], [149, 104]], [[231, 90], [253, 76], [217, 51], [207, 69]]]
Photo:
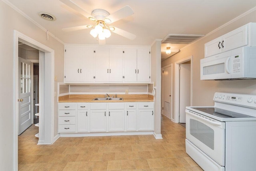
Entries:
[[186, 107], [186, 153], [205, 171], [255, 171], [256, 95], [215, 93]]

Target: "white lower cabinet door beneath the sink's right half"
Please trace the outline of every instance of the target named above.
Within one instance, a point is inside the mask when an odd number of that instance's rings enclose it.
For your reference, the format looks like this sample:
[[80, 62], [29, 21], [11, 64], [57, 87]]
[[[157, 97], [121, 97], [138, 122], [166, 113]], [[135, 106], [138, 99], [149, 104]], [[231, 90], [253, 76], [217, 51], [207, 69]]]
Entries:
[[108, 131], [124, 131], [124, 110], [108, 111]]

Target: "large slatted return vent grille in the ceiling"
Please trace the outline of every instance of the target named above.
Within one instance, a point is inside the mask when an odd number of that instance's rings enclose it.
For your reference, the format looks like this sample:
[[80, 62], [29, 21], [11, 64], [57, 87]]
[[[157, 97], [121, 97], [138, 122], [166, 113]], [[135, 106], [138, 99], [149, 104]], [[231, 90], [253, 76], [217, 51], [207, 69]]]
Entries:
[[204, 35], [169, 34], [162, 40], [162, 44], [190, 44]]

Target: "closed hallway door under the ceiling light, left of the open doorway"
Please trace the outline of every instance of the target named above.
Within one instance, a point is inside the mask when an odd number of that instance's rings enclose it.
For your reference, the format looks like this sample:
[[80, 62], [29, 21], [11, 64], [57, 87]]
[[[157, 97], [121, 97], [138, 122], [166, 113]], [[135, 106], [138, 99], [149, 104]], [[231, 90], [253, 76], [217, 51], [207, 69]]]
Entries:
[[163, 114], [171, 119], [171, 95], [172, 95], [172, 66], [163, 68], [162, 72], [163, 83]]

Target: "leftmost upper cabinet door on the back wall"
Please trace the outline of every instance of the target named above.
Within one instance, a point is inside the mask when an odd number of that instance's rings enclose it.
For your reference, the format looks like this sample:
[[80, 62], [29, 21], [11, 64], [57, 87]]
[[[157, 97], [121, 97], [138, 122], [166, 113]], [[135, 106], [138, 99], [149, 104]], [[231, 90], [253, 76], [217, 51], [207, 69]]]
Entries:
[[80, 81], [80, 53], [79, 47], [66, 47], [65, 52], [65, 82]]

